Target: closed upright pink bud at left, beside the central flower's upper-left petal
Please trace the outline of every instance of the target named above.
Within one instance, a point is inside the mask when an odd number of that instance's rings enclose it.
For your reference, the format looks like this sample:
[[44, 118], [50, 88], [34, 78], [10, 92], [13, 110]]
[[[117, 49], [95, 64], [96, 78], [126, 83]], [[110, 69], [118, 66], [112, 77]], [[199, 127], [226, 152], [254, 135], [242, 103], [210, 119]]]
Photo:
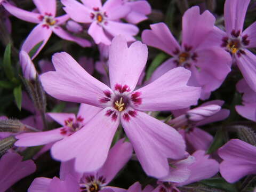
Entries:
[[22, 67], [23, 76], [28, 80], [34, 80], [37, 72], [34, 63], [25, 51], [20, 52], [20, 65]]

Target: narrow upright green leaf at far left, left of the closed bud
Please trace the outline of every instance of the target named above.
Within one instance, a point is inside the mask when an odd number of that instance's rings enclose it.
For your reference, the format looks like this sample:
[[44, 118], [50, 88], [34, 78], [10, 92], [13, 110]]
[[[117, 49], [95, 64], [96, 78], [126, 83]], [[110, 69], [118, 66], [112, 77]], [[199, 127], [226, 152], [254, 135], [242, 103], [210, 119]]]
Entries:
[[3, 68], [6, 74], [6, 77], [9, 78], [10, 81], [14, 82], [15, 77], [14, 77], [14, 69], [12, 67], [12, 62], [11, 62], [11, 47], [12, 47], [11, 43], [9, 43], [5, 48]]

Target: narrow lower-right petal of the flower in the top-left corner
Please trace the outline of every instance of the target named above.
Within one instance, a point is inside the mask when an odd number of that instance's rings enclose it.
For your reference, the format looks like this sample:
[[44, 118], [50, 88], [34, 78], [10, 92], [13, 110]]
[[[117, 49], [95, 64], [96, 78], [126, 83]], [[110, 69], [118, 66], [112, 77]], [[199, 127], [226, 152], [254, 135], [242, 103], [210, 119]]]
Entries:
[[52, 30], [53, 30], [53, 33], [58, 35], [60, 38], [66, 39], [68, 41], [76, 42], [78, 45], [82, 47], [91, 46], [91, 43], [86, 39], [71, 35], [67, 31], [63, 30], [61, 27], [53, 27]]

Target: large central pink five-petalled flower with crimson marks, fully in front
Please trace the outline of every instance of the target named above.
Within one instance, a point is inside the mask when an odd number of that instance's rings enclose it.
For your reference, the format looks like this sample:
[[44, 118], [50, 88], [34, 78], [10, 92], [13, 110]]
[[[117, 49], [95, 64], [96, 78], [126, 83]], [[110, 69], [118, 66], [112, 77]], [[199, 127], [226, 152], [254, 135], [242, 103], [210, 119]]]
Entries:
[[114, 38], [109, 52], [111, 88], [89, 75], [69, 54], [53, 55], [57, 71], [41, 76], [45, 91], [60, 100], [102, 108], [81, 130], [54, 144], [54, 158], [76, 158], [76, 169], [83, 172], [99, 169], [120, 122], [147, 174], [164, 177], [169, 169], [167, 158], [183, 158], [181, 135], [143, 111], [188, 107], [197, 102], [201, 89], [187, 86], [190, 72], [176, 68], [134, 91], [147, 54], [147, 46], [141, 42], [127, 47], [125, 38]]

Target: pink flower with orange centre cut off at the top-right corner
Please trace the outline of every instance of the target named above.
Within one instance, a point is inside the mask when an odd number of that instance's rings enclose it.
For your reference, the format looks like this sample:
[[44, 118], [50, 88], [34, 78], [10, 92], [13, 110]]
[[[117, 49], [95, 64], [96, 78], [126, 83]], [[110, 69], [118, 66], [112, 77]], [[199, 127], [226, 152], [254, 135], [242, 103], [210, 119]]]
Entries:
[[250, 0], [226, 0], [224, 20], [226, 31], [218, 27], [209, 37], [209, 42], [230, 53], [247, 84], [256, 91], [256, 56], [250, 48], [256, 47], [256, 22], [243, 31], [245, 14]]

